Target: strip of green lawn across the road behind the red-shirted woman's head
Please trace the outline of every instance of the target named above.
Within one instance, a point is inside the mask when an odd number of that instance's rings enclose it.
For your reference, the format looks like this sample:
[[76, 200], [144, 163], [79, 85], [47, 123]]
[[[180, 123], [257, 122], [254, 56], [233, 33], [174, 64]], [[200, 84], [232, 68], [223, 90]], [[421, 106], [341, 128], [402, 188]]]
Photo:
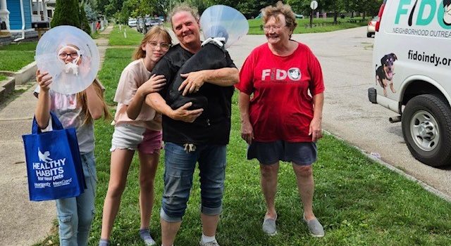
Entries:
[[[336, 30], [342, 30], [347, 28], [353, 28], [353, 27], [361, 27], [368, 24], [369, 20], [363, 21], [362, 18], [352, 18], [353, 20], [357, 22], [350, 22], [350, 18], [344, 18], [344, 19], [338, 19], [338, 24], [333, 23], [333, 18], [319, 18], [313, 19], [314, 27], [310, 28], [309, 18], [304, 19], [296, 19], [297, 20], [297, 27], [294, 31], [295, 34], [298, 33], [310, 33], [310, 32], [330, 32], [330, 31], [336, 31]], [[249, 22], [249, 34], [264, 34], [264, 31], [262, 29], [263, 26], [263, 20], [261, 18], [259, 19], [253, 19], [253, 20], [247, 20]]]

